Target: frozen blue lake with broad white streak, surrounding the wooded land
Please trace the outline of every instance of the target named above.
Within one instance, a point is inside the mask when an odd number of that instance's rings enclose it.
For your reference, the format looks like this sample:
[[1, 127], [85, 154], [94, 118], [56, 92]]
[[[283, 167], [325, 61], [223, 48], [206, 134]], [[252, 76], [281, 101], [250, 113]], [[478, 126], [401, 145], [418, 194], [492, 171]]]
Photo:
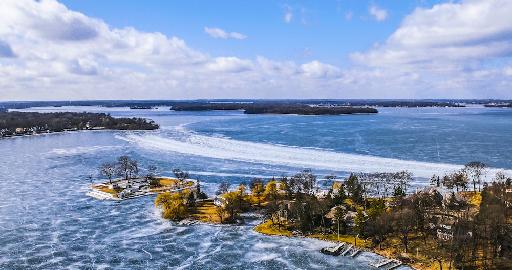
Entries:
[[[120, 203], [87, 196], [88, 175], [121, 155], [200, 178], [212, 195], [238, 184], [308, 168], [334, 173], [408, 170], [413, 185], [478, 160], [512, 169], [512, 110], [379, 108], [373, 115], [245, 115], [59, 107], [148, 117], [156, 131], [83, 131], [0, 139], [2, 269], [371, 269], [380, 256], [326, 256], [323, 241], [263, 236], [245, 224], [182, 226], [163, 220], [153, 196]], [[495, 169], [497, 170], [497, 169]], [[493, 177], [488, 174], [488, 179]], [[407, 268], [402, 266], [403, 269]]]

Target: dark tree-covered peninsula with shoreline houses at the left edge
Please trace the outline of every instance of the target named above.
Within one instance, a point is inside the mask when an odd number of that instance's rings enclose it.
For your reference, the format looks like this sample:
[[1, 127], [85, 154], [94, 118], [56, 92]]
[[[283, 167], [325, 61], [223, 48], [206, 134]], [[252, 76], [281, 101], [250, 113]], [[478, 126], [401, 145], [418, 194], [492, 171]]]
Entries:
[[145, 118], [114, 118], [105, 113], [75, 112], [0, 112], [0, 129], [14, 131], [17, 128], [39, 127], [41, 130], [62, 131], [89, 128], [151, 130], [159, 126]]

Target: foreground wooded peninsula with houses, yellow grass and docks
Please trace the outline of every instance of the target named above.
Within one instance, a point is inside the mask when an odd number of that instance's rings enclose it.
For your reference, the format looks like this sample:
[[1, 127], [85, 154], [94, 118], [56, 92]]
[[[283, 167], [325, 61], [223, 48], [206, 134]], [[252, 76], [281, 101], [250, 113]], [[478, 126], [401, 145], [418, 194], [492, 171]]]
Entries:
[[[512, 180], [500, 171], [482, 188], [484, 169], [485, 164], [470, 162], [442, 180], [434, 175], [430, 186], [409, 195], [412, 174], [406, 171], [352, 174], [344, 181], [330, 175], [330, 188], [322, 191], [316, 176], [303, 170], [267, 183], [255, 178], [249, 189], [241, 184], [231, 190], [221, 183], [213, 203], [190, 200], [195, 191], [188, 190], [159, 195], [155, 205], [164, 218], [223, 224], [236, 224], [240, 213], [256, 211], [266, 221], [255, 232], [346, 243], [340, 254], [354, 257], [365, 250], [389, 258], [374, 266], [511, 269]], [[370, 189], [376, 189], [376, 197], [368, 196]]]

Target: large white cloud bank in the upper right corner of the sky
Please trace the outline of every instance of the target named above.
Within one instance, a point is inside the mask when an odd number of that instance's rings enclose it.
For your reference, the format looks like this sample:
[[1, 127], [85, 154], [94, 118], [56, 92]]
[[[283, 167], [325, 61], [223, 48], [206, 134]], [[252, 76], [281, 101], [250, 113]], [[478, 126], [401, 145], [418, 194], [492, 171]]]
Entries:
[[512, 54], [511, 9], [512, 2], [499, 0], [417, 8], [385, 44], [351, 57], [356, 63], [378, 67], [471, 68], [472, 61]]

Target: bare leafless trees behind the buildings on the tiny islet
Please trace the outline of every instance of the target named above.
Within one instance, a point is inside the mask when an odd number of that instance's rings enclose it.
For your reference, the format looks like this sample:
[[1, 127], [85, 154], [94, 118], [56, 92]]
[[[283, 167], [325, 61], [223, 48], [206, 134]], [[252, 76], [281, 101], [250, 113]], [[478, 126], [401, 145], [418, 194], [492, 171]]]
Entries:
[[[154, 176], [156, 169], [155, 165], [150, 165], [150, 168], [148, 168], [151, 177]], [[112, 183], [112, 177], [115, 176], [124, 176], [126, 180], [129, 180], [139, 175], [139, 161], [129, 156], [121, 156], [116, 162], [109, 161], [101, 164], [99, 173], [108, 177], [109, 183]]]

